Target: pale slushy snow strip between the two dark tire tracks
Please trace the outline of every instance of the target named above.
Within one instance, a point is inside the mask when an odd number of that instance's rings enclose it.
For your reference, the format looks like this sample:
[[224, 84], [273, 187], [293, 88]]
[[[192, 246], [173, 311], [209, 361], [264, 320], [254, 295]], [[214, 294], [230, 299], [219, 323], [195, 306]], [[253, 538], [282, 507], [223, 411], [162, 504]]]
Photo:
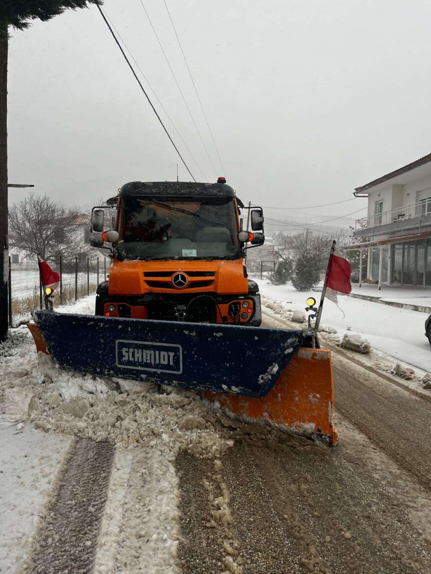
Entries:
[[174, 455], [155, 441], [113, 466], [93, 574], [180, 574]]

